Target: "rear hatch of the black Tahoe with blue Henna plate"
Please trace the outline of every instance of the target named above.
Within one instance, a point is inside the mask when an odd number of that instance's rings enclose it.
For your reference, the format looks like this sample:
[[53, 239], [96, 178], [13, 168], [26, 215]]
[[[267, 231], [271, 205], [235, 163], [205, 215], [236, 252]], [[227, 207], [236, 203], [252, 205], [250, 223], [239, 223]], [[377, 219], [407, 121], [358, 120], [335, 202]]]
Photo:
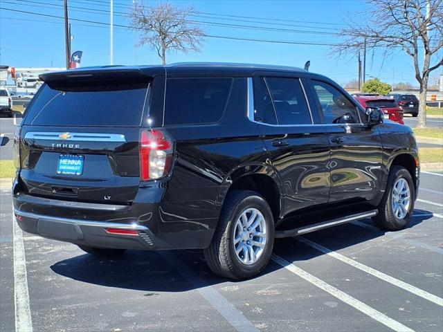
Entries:
[[[69, 72], [66, 72], [69, 73]], [[139, 137], [150, 78], [134, 71], [43, 77], [20, 140], [24, 191], [130, 204], [140, 183]]]

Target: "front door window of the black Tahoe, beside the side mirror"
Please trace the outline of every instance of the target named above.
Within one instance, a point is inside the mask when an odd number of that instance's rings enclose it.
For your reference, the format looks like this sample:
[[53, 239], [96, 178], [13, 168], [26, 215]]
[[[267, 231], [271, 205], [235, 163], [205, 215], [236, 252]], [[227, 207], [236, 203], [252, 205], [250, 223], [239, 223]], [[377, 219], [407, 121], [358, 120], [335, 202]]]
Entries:
[[325, 82], [313, 80], [312, 84], [327, 124], [360, 122], [358, 110], [343, 93]]

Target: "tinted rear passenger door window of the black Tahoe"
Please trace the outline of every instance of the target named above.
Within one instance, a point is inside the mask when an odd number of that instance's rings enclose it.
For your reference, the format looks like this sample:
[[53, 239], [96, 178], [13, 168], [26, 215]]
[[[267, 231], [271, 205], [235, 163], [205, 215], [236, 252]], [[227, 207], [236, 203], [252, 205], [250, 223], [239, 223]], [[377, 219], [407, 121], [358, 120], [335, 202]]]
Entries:
[[311, 124], [305, 94], [297, 78], [266, 77], [278, 124]]

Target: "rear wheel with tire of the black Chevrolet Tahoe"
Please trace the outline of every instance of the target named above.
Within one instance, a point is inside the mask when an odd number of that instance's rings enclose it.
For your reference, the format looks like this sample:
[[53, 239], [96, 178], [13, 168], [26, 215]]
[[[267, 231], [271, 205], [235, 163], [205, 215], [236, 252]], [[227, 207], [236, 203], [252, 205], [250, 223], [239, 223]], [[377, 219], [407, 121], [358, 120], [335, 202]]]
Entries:
[[[244, 218], [240, 219], [242, 214], [247, 218], [245, 223], [242, 223]], [[241, 230], [241, 225], [247, 225], [248, 221], [256, 225], [255, 229]], [[260, 225], [257, 225], [259, 221]], [[244, 234], [244, 237], [235, 242], [236, 234], [237, 239], [240, 237], [239, 234]], [[253, 234], [266, 234], [266, 239], [260, 235], [255, 237]], [[253, 253], [246, 250], [249, 248], [246, 243], [261, 241], [264, 243], [263, 246], [249, 244]], [[204, 250], [204, 257], [213, 273], [230, 279], [247, 279], [264, 270], [271, 258], [273, 243], [274, 221], [269, 204], [257, 192], [234, 190], [226, 196], [217, 230], [210, 246]], [[245, 248], [246, 252], [240, 250], [237, 254], [236, 248], [240, 247]], [[248, 258], [251, 259], [246, 262]]]

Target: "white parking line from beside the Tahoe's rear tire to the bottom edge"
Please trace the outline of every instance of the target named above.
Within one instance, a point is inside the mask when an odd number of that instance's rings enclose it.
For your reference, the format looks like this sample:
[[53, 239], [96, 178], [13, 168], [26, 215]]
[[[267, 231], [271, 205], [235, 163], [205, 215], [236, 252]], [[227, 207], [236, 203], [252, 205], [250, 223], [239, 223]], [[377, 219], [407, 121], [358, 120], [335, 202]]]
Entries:
[[361, 313], [368, 315], [369, 317], [371, 317], [374, 320], [377, 320], [381, 324], [388, 326], [390, 329], [401, 332], [414, 331], [413, 329], [410, 329], [408, 326], [405, 326], [404, 324], [397, 322], [397, 320], [393, 320], [391, 317], [388, 317], [383, 313], [381, 313], [380, 311], [375, 310], [371, 306], [368, 306], [368, 304], [365, 304], [359, 301], [358, 299], [352, 297], [351, 295], [348, 295], [343, 291], [340, 291], [338, 288], [335, 288], [334, 286], [331, 286], [326, 282], [323, 282], [323, 280], [314, 277], [314, 275], [311, 275], [310, 273], [307, 273], [305, 270], [298, 268], [298, 266], [289, 263], [289, 261], [287, 261], [286, 259], [282, 259], [282, 257], [280, 256], [273, 254], [272, 260], [275, 261], [275, 263], [280, 264], [280, 266], [283, 266], [284, 268], [289, 270], [291, 273], [298, 275], [298, 277], [305, 279], [307, 282], [329, 293], [330, 295], [336, 297], [337, 299], [340, 299], [341, 301], [345, 302], [345, 304], [348, 304], [353, 308], [356, 308], [358, 311], [361, 311]]

